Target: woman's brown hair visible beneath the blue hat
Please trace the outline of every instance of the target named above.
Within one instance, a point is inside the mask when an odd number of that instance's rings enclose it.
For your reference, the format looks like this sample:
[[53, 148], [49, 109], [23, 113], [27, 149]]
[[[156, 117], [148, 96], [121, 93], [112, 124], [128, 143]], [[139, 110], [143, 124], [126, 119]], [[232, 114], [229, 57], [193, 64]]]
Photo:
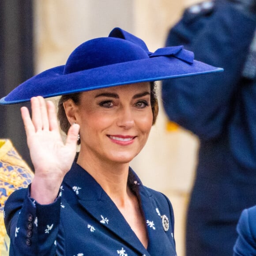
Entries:
[[[156, 93], [156, 84], [154, 82], [150, 82], [150, 87], [151, 87], [151, 109], [153, 113], [153, 125], [156, 122], [156, 118], [158, 116], [158, 99], [157, 99], [157, 93]], [[79, 105], [80, 101], [80, 95], [81, 93], [74, 93], [74, 94], [68, 94], [68, 95], [62, 95], [59, 103], [58, 103], [58, 113], [57, 117], [60, 121], [60, 128], [65, 134], [68, 133], [68, 129], [70, 128], [70, 123], [68, 121], [68, 118], [65, 113], [65, 109], [63, 106], [63, 103], [67, 101], [68, 99], [72, 99], [72, 101], [76, 104]]]

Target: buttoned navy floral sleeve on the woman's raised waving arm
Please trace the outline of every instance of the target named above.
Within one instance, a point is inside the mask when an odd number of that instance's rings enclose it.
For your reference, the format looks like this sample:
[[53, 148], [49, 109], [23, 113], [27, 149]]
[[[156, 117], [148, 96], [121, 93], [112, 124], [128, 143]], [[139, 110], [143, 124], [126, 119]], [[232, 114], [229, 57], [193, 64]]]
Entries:
[[4, 223], [10, 237], [10, 256], [56, 255], [60, 224], [60, 200], [40, 205], [20, 189], [9, 196], [4, 207]]

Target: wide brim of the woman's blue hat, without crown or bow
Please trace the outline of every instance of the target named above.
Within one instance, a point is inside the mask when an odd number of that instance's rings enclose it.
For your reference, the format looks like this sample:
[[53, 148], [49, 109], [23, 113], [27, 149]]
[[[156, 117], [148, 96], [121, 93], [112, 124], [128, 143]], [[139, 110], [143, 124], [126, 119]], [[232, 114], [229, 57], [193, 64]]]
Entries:
[[192, 64], [172, 56], [158, 56], [92, 68], [63, 75], [64, 65], [33, 76], [0, 99], [10, 105], [30, 101], [34, 96], [44, 98], [120, 86], [124, 84], [159, 81], [192, 75], [221, 72], [194, 60]]

